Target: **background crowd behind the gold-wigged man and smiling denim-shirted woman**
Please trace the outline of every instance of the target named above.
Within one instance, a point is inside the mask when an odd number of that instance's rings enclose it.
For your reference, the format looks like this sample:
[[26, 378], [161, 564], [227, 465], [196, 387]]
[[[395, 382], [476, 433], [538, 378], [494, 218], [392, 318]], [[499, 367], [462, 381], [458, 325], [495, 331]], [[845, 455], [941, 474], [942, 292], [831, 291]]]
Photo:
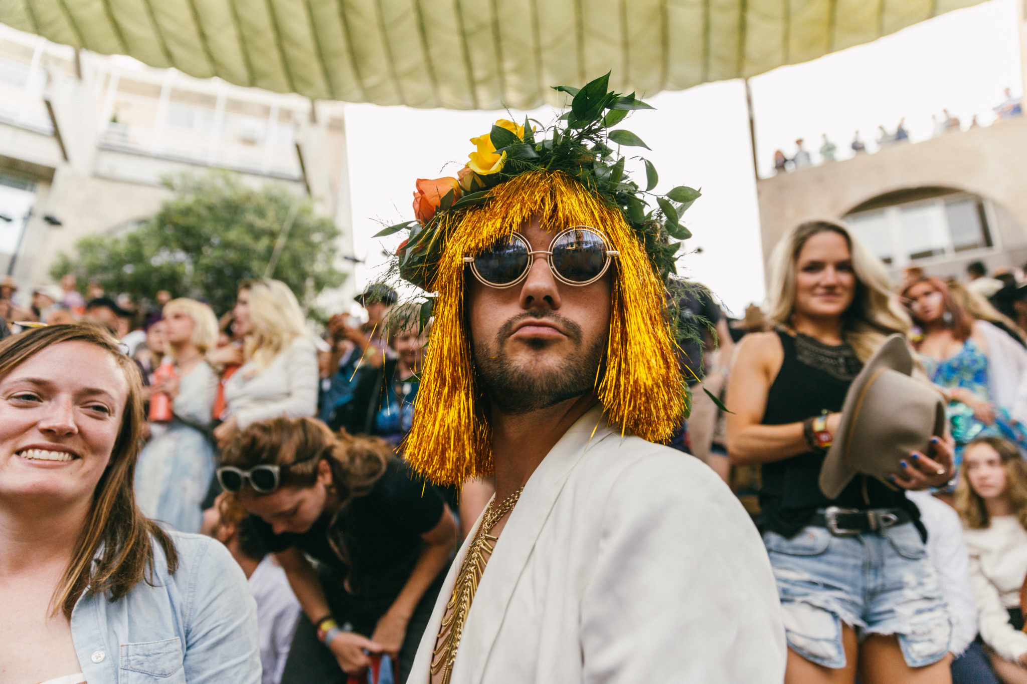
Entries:
[[[826, 223], [793, 231], [775, 258], [768, 314], [754, 305], [731, 321], [701, 287], [679, 303], [703, 333], [683, 348], [693, 406], [672, 441], [758, 501], [747, 508], [778, 581], [788, 681], [829, 681], [831, 669], [905, 681], [880, 673], [939, 662], [956, 683], [1027, 682], [1027, 285], [974, 263], [965, 282], [912, 268], [892, 289], [880, 261]], [[86, 357], [110, 365], [108, 340], [120, 340], [115, 375], [138, 372], [129, 394], [145, 410], [134, 428], [146, 439], [134, 475], [140, 519], [159, 521], [158, 540], [159, 529], [176, 542], [202, 531], [235, 559], [257, 599], [262, 681], [336, 681], [379, 656], [404, 681], [454, 544], [491, 492], [468, 482], [461, 497], [396, 456], [430, 336], [420, 305], [376, 285], [357, 297], [366, 321], [339, 314], [315, 336], [288, 286], [269, 279], [241, 283], [220, 320], [159, 293], [163, 306], [138, 326], [116, 300], [98, 293], [76, 307], [70, 291], [39, 288], [18, 312], [5, 283], [6, 306], [30, 319], [10, 327], [31, 330], [35, 316], [63, 330], [33, 352], [41, 358], [96, 348], [72, 364], [86, 375]], [[103, 332], [61, 325], [59, 314]], [[910, 454], [906, 479], [862, 476], [828, 498], [810, 418], [838, 431], [849, 386], [891, 333], [910, 340], [917, 372], [944, 397], [945, 439]], [[914, 485], [935, 493], [906, 491]], [[821, 522], [832, 508], [895, 520], [838, 535]], [[871, 539], [873, 564], [852, 574]]]

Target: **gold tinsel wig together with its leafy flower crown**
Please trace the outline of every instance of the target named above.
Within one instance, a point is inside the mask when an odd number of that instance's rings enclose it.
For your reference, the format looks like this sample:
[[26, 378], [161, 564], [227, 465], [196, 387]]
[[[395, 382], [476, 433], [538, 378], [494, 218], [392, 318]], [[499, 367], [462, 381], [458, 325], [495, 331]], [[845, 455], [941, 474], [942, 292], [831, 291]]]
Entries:
[[[610, 421], [650, 441], [671, 437], [688, 406], [677, 340], [693, 336], [676, 315], [669, 293], [675, 253], [687, 229], [679, 215], [698, 197], [678, 187], [665, 196], [649, 191], [656, 171], [648, 161], [647, 188], [624, 176], [624, 158], [611, 144], [645, 147], [624, 130], [607, 130], [630, 110], [650, 109], [634, 95], [607, 90], [608, 75], [573, 95], [571, 111], [538, 136], [500, 120], [490, 133], [471, 138], [472, 153], [458, 178], [418, 179], [416, 222], [385, 229], [409, 237], [396, 250], [400, 277], [434, 293], [421, 309], [422, 325], [434, 322], [417, 409], [403, 448], [407, 460], [439, 484], [459, 485], [493, 472], [488, 398], [474, 368], [466, 328], [465, 256], [489, 250], [532, 217], [559, 232], [588, 226], [619, 252], [613, 278], [610, 330], [595, 390]], [[564, 123], [566, 122], [566, 123]], [[658, 207], [646, 211], [646, 196]], [[669, 307], [671, 304], [673, 306]]]

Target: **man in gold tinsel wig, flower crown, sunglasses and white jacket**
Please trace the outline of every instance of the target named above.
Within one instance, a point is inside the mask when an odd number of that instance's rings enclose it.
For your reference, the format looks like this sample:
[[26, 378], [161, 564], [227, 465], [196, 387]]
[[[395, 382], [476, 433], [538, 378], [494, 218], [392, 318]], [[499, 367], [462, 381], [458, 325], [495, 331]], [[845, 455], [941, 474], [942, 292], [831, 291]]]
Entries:
[[[500, 120], [457, 178], [419, 179], [398, 274], [434, 297], [407, 459], [494, 476], [412, 684], [779, 683], [766, 552], [705, 465], [658, 442], [686, 413], [667, 283], [698, 196], [624, 175], [634, 95], [561, 86], [553, 127]], [[648, 208], [646, 197], [654, 198]], [[673, 298], [671, 298], [673, 300]], [[429, 307], [425, 304], [424, 312]]]

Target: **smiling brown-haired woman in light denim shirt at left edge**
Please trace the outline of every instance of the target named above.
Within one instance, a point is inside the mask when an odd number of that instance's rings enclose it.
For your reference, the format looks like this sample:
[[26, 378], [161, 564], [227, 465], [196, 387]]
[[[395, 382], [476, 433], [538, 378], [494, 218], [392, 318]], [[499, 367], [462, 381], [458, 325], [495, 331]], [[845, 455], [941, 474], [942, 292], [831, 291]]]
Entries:
[[139, 371], [99, 328], [0, 343], [4, 681], [260, 681], [231, 556], [136, 506], [144, 419]]

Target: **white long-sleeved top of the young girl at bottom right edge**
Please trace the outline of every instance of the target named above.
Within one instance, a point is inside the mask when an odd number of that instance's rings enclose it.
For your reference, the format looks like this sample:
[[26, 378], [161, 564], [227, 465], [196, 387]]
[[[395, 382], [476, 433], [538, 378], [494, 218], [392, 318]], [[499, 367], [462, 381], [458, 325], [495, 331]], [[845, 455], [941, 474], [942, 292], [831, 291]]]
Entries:
[[963, 533], [981, 638], [1007, 660], [1027, 653], [1027, 634], [1013, 629], [1006, 608], [1020, 605], [1027, 576], [1027, 530], [1015, 516], [996, 516], [984, 529]]

